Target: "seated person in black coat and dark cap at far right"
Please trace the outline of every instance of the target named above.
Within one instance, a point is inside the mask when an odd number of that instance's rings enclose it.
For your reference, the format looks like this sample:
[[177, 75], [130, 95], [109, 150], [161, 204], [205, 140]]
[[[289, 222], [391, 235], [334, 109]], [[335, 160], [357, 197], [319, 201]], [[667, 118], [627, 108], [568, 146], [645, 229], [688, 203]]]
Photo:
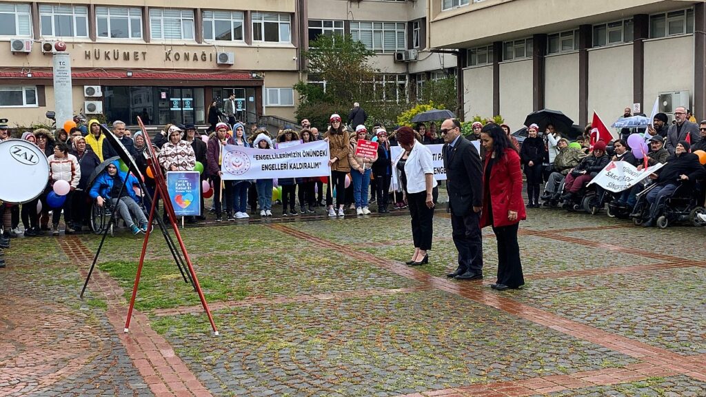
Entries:
[[688, 153], [691, 148], [687, 141], [679, 141], [674, 148], [674, 155], [667, 159], [666, 165], [659, 170], [659, 175], [651, 174], [650, 179], [657, 184], [647, 193], [650, 203], [650, 215], [643, 227], [654, 225], [664, 210], [664, 200], [676, 191], [679, 182], [693, 184], [697, 179], [706, 177], [706, 170], [699, 162], [698, 155]]

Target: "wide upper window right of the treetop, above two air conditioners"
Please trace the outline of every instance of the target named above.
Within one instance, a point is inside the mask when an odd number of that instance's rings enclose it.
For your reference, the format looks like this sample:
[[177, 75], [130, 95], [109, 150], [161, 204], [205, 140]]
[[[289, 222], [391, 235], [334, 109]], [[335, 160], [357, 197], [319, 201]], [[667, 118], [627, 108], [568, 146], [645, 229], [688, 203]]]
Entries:
[[405, 23], [351, 22], [351, 36], [378, 54], [407, 49]]

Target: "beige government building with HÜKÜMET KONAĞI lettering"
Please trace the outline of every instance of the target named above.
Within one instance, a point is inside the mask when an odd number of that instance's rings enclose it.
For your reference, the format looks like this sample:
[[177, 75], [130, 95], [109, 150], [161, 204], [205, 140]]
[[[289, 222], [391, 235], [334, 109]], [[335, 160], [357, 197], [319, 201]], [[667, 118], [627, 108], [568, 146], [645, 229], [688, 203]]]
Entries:
[[455, 57], [426, 51], [428, 6], [399, 0], [229, 0], [210, 7], [187, 0], [168, 6], [157, 0], [0, 0], [0, 117], [17, 126], [47, 123], [58, 41], [71, 55], [74, 112], [89, 118], [204, 124], [211, 101], [222, 107], [234, 93], [238, 119], [294, 119], [292, 86], [307, 79], [301, 53], [310, 39], [331, 33], [350, 34], [373, 49], [379, 81], [400, 85], [394, 100], [406, 101], [426, 79], [455, 73]]

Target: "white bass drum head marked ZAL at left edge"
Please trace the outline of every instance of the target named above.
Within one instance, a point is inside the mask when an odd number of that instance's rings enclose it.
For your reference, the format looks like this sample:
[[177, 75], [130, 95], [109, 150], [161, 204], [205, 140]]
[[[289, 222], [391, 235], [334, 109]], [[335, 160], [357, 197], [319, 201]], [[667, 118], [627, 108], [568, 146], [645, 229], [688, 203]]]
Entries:
[[0, 142], [0, 200], [27, 203], [49, 182], [49, 162], [34, 143], [21, 139]]

